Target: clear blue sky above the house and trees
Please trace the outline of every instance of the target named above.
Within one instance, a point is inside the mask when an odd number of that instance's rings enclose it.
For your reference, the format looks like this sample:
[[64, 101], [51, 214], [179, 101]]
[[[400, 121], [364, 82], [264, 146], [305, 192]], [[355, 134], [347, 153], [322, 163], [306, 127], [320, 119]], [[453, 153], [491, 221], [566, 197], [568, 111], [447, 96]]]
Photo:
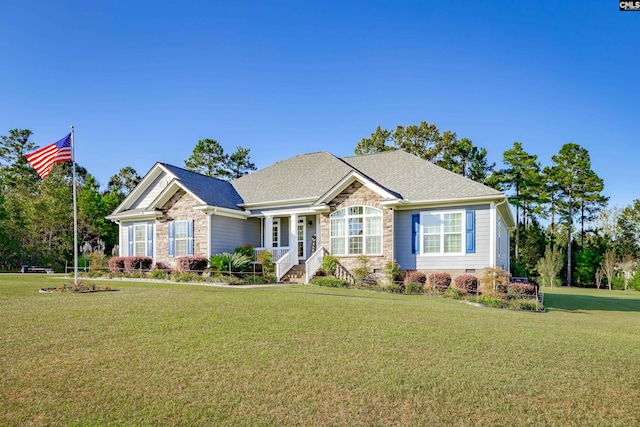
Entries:
[[640, 12], [584, 1], [71, 1], [0, 5], [0, 134], [44, 146], [74, 125], [106, 186], [184, 166], [196, 142], [258, 167], [353, 154], [426, 120], [501, 166], [585, 147], [611, 205], [640, 198]]

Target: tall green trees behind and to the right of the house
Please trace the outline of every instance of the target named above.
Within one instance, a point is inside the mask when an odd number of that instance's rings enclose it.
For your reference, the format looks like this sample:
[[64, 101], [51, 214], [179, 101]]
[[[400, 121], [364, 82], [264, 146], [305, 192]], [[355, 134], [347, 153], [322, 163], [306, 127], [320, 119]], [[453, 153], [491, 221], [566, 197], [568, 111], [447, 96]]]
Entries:
[[503, 153], [503, 167], [496, 169], [485, 148], [423, 121], [398, 125], [395, 130], [378, 126], [356, 144], [354, 152], [388, 150], [409, 152], [504, 191], [517, 223], [511, 239], [514, 276], [552, 282], [557, 278], [582, 286], [599, 286], [602, 279], [608, 286], [616, 280], [626, 286], [634, 277], [640, 249], [640, 200], [623, 209], [609, 208], [604, 181], [593, 171], [584, 147], [564, 144], [543, 166], [536, 154], [516, 141]]

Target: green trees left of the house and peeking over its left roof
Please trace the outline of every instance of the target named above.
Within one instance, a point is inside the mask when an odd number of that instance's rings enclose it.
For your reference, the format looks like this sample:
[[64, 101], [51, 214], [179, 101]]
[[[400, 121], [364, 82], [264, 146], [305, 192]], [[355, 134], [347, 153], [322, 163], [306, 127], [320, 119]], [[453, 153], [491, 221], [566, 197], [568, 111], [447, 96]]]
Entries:
[[[55, 163], [41, 179], [26, 160], [38, 148], [28, 129], [12, 129], [0, 137], [0, 271], [21, 265], [47, 265], [61, 271], [73, 264], [72, 164]], [[220, 179], [233, 179], [256, 169], [249, 149], [226, 154], [213, 139], [198, 141], [185, 168]], [[105, 219], [140, 182], [125, 166], [101, 190], [98, 180], [76, 164], [78, 242], [81, 252], [117, 251], [118, 226]]]

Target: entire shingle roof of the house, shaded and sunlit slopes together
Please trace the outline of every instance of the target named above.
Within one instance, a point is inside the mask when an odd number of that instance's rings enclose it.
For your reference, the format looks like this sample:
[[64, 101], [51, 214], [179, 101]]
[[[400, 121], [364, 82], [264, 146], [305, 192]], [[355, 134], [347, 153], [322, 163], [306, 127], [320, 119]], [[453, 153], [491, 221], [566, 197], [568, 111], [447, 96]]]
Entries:
[[236, 210], [242, 204], [318, 199], [351, 171], [410, 203], [503, 196], [404, 151], [342, 159], [327, 152], [301, 154], [231, 182], [162, 165], [208, 205]]

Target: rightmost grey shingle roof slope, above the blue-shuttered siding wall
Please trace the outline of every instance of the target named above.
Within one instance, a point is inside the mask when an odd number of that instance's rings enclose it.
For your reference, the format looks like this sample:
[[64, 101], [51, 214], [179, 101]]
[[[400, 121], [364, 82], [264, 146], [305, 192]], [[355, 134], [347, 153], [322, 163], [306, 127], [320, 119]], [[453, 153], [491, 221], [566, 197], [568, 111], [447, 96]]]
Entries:
[[344, 157], [343, 160], [408, 202], [503, 195], [404, 151]]

